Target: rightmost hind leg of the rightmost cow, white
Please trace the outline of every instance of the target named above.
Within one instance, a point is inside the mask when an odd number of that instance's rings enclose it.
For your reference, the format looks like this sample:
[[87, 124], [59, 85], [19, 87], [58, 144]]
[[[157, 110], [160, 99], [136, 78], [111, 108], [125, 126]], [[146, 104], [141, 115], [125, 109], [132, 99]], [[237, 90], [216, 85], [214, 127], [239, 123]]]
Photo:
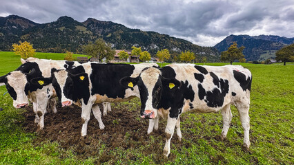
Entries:
[[249, 148], [250, 140], [249, 140], [249, 129], [250, 129], [250, 118], [249, 118], [249, 104], [237, 104], [236, 105], [239, 111], [239, 117], [241, 120], [241, 124], [244, 130], [244, 144], [243, 146]]

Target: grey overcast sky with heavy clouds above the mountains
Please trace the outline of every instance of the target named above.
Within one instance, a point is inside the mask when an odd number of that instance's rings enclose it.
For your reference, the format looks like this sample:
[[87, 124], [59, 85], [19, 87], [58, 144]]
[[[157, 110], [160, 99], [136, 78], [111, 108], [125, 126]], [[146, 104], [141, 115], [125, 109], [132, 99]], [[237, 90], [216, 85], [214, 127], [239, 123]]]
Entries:
[[0, 17], [37, 23], [91, 17], [214, 46], [230, 34], [294, 37], [293, 0], [0, 0]]

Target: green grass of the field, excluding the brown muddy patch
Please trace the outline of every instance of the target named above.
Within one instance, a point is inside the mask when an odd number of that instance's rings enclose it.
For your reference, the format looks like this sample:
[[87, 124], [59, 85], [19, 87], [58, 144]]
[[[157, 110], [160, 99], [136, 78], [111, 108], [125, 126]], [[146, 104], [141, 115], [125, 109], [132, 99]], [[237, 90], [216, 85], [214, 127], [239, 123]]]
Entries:
[[[36, 57], [63, 59], [63, 54], [38, 53]], [[16, 69], [20, 64], [19, 56], [12, 52], [0, 52], [0, 76]], [[206, 65], [228, 65], [228, 63], [206, 63]], [[233, 65], [243, 65], [253, 74], [249, 111], [250, 151], [242, 149], [243, 129], [235, 107], [232, 107], [233, 120], [228, 131], [228, 140], [225, 142], [215, 138], [222, 132], [220, 113], [185, 113], [181, 116], [183, 135], [181, 148], [172, 142], [171, 153], [175, 158], [172, 161], [162, 160], [162, 164], [294, 164], [293, 63], [286, 63], [286, 66], [282, 63], [273, 65], [233, 63]], [[0, 111], [0, 164], [97, 163], [102, 151], [106, 149], [106, 145], [102, 142], [97, 146], [99, 151], [97, 156], [88, 159], [81, 159], [71, 149], [61, 148], [56, 141], [44, 140], [41, 144], [34, 144], [33, 140], [37, 138], [37, 133], [26, 133], [22, 127], [25, 118], [21, 113], [26, 110], [14, 109], [12, 98], [8, 94], [3, 96], [5, 92], [6, 88], [0, 87], [0, 107], [3, 109]], [[112, 109], [121, 105], [138, 107], [139, 100], [112, 104]], [[139, 114], [139, 111], [137, 113]], [[138, 118], [138, 120], [143, 119]], [[146, 130], [147, 127], [141, 129], [145, 132]], [[188, 136], [190, 138], [187, 138]], [[158, 141], [159, 146], [162, 146], [160, 149], [163, 150], [164, 138], [150, 135], [148, 141]], [[125, 142], [126, 140], [123, 140], [121, 143]], [[150, 146], [137, 146], [136, 150], [127, 151], [117, 147], [109, 153], [115, 157], [115, 162], [110, 160], [104, 164], [155, 164], [155, 154], [141, 154], [146, 147]], [[136, 159], [126, 160], [128, 153], [136, 155]]]

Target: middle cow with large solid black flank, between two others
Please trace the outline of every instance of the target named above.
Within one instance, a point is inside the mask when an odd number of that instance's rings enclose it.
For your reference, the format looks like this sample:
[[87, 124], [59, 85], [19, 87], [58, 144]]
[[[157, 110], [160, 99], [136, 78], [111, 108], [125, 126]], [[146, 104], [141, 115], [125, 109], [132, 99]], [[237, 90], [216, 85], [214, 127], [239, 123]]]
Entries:
[[138, 76], [146, 67], [158, 66], [157, 64], [101, 64], [101, 63], [84, 63], [71, 70], [56, 70], [51, 78], [35, 78], [32, 83], [43, 80], [51, 83], [57, 91], [57, 96], [63, 106], [72, 103], [80, 104], [82, 108], [81, 120], [83, 123], [81, 136], [87, 134], [87, 125], [90, 120], [90, 109], [94, 108], [100, 118], [97, 118], [100, 129], [104, 129], [101, 120], [99, 107], [92, 105], [101, 102], [119, 102], [139, 97], [137, 86], [129, 85], [121, 87], [119, 80], [125, 76]]

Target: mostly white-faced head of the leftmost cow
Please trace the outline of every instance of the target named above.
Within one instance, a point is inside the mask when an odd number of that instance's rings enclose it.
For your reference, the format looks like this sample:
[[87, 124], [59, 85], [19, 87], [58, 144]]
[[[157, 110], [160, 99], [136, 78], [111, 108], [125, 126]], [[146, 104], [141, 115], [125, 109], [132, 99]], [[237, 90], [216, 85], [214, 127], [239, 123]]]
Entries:
[[32, 69], [28, 74], [21, 71], [13, 71], [0, 77], [0, 84], [6, 85], [6, 89], [13, 99], [13, 106], [15, 108], [18, 109], [28, 106], [29, 80], [34, 73], [35, 69]]

